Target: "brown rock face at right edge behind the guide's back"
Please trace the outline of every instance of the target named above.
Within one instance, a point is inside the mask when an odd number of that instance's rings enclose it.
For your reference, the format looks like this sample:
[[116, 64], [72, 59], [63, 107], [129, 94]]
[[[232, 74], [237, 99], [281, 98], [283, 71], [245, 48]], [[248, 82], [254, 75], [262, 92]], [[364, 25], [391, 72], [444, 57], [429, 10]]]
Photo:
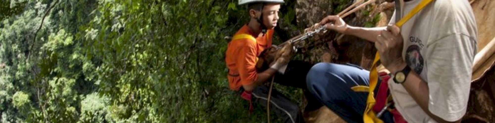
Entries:
[[[478, 28], [478, 52], [495, 48], [490, 44], [495, 41], [495, 1], [494, 0], [470, 0], [476, 17]], [[493, 44], [493, 43], [492, 43]], [[493, 52], [477, 54], [495, 56]], [[476, 69], [484, 74], [480, 79], [471, 83], [471, 94], [468, 102], [467, 113], [463, 118], [466, 123], [494, 123], [495, 122], [495, 69], [492, 57], [483, 57], [480, 61], [481, 68]], [[476, 63], [475, 63], [476, 64]], [[481, 69], [481, 70], [480, 70]], [[478, 73], [477, 72], [477, 73]], [[474, 76], [473, 76], [474, 77]], [[478, 76], [476, 76], [478, 77]], [[475, 79], [475, 78], [473, 78]]]

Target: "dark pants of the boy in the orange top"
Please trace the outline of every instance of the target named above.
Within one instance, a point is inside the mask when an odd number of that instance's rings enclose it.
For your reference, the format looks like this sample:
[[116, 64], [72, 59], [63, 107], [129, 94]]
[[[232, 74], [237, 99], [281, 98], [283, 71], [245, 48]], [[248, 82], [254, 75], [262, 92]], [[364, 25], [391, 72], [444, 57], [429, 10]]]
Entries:
[[[306, 106], [305, 111], [315, 110], [323, 106], [323, 104], [314, 98], [312, 94], [306, 92], [306, 74], [312, 66], [313, 64], [308, 62], [291, 61], [287, 66], [285, 74], [276, 73], [274, 78], [275, 83], [304, 90], [305, 96], [308, 99], [308, 106]], [[271, 81], [271, 79], [269, 81]], [[240, 92], [242, 91], [243, 89], [241, 88]], [[256, 87], [252, 91], [253, 103], [266, 108], [268, 91], [269, 86], [261, 85]], [[276, 89], [272, 89], [270, 110], [281, 117], [284, 123], [304, 123], [299, 106]]]

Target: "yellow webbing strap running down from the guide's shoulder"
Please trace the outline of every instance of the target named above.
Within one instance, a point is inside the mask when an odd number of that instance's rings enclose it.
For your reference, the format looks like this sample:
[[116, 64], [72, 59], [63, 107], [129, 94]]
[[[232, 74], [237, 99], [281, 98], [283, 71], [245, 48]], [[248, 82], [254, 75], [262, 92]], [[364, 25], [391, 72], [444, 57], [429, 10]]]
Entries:
[[[397, 27], [401, 27], [405, 22], [407, 22], [409, 19], [411, 19], [412, 16], [414, 16], [416, 13], [418, 13], [421, 9], [423, 9], [426, 5], [428, 5], [430, 2], [433, 0], [423, 0], [421, 3], [419, 3], [414, 9], [412, 9], [411, 12], [409, 12], [404, 18], [400, 19], [397, 23]], [[383, 123], [382, 120], [376, 117], [376, 113], [373, 112], [373, 106], [376, 104], [375, 97], [373, 97], [374, 93], [373, 91], [375, 90], [377, 83], [378, 83], [378, 71], [376, 67], [378, 66], [378, 61], [380, 61], [380, 54], [378, 52], [375, 55], [375, 59], [373, 60], [373, 65], [371, 66], [371, 71], [370, 71], [370, 85], [369, 85], [369, 94], [368, 94], [368, 99], [366, 100], [366, 109], [364, 110], [364, 116], [363, 116], [363, 121], [364, 123]]]

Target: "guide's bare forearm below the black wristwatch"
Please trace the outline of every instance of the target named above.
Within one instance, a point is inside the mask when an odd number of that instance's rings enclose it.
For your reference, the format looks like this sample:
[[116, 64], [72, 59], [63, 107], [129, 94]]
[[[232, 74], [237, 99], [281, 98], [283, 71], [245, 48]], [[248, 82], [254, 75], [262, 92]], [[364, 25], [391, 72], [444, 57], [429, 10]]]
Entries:
[[414, 70], [409, 72], [409, 75], [407, 76], [406, 81], [402, 83], [402, 86], [409, 93], [409, 95], [412, 96], [416, 103], [418, 103], [419, 107], [421, 107], [421, 109], [423, 109], [423, 111], [428, 114], [428, 116], [439, 123], [450, 123], [430, 112], [430, 110], [428, 109], [429, 96], [425, 96], [430, 95], [428, 84], [423, 81]]

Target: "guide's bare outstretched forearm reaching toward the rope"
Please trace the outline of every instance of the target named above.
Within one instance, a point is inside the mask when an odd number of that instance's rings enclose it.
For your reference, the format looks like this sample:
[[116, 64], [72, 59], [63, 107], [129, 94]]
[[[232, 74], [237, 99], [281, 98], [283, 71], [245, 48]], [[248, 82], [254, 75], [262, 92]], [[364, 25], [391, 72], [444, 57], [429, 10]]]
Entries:
[[377, 28], [362, 28], [362, 27], [352, 27], [348, 26], [345, 34], [354, 35], [356, 37], [368, 40], [370, 42], [375, 42], [376, 36], [380, 34], [380, 31], [386, 30], [386, 27]]

